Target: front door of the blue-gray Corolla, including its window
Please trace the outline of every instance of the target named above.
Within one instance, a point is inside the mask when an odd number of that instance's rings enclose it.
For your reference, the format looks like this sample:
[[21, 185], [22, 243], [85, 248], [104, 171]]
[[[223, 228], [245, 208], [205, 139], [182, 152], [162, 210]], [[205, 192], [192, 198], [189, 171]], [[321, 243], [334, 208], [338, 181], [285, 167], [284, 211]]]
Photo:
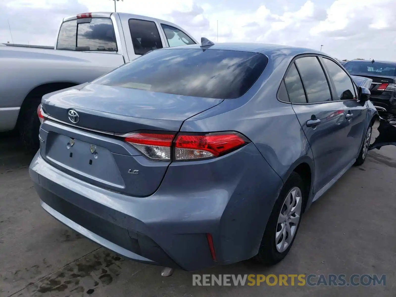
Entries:
[[357, 88], [344, 69], [327, 58], [321, 58], [334, 91], [334, 99], [343, 104], [345, 110], [345, 135], [343, 151], [346, 160], [353, 160], [360, 152], [363, 137], [368, 127], [367, 103], [357, 99]]

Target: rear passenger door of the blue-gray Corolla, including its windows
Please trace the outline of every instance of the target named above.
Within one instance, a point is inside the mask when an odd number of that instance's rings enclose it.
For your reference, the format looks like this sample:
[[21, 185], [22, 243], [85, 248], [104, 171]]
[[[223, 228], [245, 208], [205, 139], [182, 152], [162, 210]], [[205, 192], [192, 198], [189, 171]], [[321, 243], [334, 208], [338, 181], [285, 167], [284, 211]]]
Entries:
[[343, 167], [343, 104], [332, 101], [326, 75], [316, 56], [299, 57], [285, 76], [286, 90], [314, 155], [314, 192]]

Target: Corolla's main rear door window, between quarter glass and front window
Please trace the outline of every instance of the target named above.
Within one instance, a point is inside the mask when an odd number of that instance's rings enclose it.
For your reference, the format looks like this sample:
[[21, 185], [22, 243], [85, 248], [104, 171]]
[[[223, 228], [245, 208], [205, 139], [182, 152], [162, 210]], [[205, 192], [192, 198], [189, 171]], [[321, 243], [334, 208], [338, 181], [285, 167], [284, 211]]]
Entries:
[[302, 57], [295, 61], [303, 80], [308, 102], [331, 101], [326, 76], [317, 57]]

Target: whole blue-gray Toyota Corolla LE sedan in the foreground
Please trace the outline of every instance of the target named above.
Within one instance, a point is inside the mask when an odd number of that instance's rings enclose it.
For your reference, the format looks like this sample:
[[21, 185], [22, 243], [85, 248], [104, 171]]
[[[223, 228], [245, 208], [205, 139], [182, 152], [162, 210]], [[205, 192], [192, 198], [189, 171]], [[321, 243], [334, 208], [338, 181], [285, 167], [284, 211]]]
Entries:
[[30, 176], [50, 215], [171, 268], [286, 256], [304, 211], [364, 162], [377, 111], [321, 51], [207, 44], [43, 97]]

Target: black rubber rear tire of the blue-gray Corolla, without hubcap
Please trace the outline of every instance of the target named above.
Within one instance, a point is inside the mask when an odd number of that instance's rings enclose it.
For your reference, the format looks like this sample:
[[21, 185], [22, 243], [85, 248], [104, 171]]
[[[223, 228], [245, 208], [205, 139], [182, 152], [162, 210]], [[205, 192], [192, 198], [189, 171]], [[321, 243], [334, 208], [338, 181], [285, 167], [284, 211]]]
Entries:
[[[286, 195], [294, 188], [299, 187], [301, 189], [302, 194], [302, 202], [301, 202], [301, 212], [300, 212], [300, 220], [297, 225], [297, 229], [295, 231], [294, 237], [287, 247], [287, 249], [283, 252], [279, 252], [275, 246], [275, 234], [276, 228], [278, 226], [278, 216], [280, 211], [284, 205], [284, 201], [286, 199]], [[289, 252], [293, 242], [297, 236], [298, 229], [301, 225], [301, 217], [303, 214], [303, 206], [305, 205], [305, 201], [307, 198], [306, 187], [304, 185], [303, 179], [298, 173], [292, 172], [289, 178], [287, 179], [286, 183], [282, 187], [278, 199], [274, 204], [274, 208], [272, 209], [270, 218], [267, 222], [267, 227], [265, 228], [263, 239], [261, 240], [261, 246], [259, 248], [259, 253], [255, 256], [255, 260], [259, 261], [264, 265], [274, 265], [284, 257], [286, 257], [287, 253]]]

